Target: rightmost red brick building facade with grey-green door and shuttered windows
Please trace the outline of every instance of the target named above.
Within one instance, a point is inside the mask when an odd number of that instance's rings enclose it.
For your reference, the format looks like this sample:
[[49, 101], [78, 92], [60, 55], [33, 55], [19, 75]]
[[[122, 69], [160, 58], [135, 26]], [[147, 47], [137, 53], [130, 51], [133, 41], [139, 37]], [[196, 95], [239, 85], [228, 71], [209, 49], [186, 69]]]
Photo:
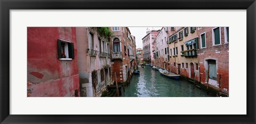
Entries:
[[200, 82], [229, 92], [229, 27], [199, 27], [198, 64]]

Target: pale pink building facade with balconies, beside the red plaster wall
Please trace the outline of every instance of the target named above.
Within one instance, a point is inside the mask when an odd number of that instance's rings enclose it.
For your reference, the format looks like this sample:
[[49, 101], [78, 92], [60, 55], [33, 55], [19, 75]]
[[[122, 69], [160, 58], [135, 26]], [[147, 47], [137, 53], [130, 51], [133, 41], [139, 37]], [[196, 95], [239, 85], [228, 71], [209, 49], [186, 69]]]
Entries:
[[112, 81], [110, 42], [101, 30], [97, 27], [76, 28], [81, 96], [101, 96]]

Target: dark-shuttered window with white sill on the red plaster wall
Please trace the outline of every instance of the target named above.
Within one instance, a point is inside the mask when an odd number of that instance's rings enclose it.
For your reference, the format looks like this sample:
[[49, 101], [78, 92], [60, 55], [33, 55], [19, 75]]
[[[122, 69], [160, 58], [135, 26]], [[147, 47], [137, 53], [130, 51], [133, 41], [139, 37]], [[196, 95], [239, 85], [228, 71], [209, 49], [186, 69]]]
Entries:
[[60, 60], [74, 59], [74, 43], [58, 39], [58, 58]]

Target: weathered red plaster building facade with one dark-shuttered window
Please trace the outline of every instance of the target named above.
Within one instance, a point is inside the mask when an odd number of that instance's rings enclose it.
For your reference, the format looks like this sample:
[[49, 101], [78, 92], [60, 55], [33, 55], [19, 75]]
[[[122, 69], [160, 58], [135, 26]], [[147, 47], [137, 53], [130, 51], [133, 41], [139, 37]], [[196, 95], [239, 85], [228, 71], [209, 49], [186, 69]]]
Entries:
[[27, 28], [27, 96], [80, 96], [76, 29]]

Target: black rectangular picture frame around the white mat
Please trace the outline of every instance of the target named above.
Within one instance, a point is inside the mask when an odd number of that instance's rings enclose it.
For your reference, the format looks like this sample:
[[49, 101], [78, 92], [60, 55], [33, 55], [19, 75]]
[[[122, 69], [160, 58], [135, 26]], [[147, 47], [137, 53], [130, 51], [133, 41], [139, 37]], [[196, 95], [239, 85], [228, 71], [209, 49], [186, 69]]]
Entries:
[[[170, 6], [171, 5], [171, 6]], [[255, 123], [255, 0], [0, 0], [0, 123]], [[10, 114], [10, 10], [198, 9], [247, 10], [246, 115], [13, 115]], [[239, 83], [239, 82], [237, 82]], [[240, 82], [241, 83], [241, 82]], [[235, 109], [235, 108], [234, 108]]]

